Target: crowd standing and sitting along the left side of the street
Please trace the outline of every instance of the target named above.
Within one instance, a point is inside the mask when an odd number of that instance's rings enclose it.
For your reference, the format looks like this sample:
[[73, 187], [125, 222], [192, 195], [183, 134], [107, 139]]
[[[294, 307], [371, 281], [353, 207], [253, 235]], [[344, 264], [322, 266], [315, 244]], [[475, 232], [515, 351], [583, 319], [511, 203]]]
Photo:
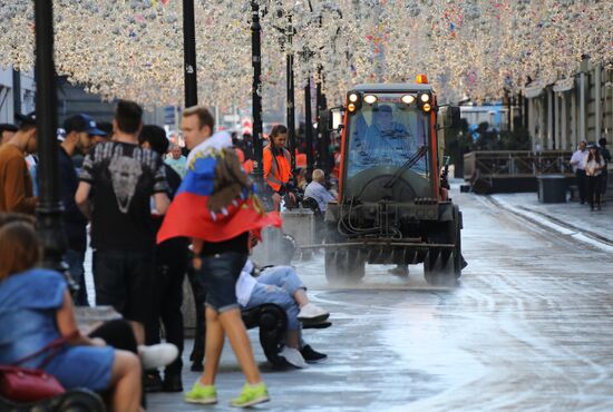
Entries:
[[[35, 357], [26, 364], [45, 369], [67, 389], [110, 391], [115, 411], [142, 410], [143, 377], [145, 390], [181, 392], [181, 305], [189, 271], [195, 273], [193, 287], [206, 291], [204, 307], [197, 307], [206, 318], [206, 344], [204, 373], [185, 401], [217, 402], [214, 384], [225, 336], [246, 379], [231, 404], [269, 400], [241, 318], [243, 308], [273, 303], [285, 311], [288, 331], [280, 355], [289, 365], [305, 367], [327, 357], [305, 344], [301, 322], [323, 322], [329, 313], [309, 301], [294, 269], [274, 267], [254, 277], [257, 266], [249, 258], [260, 229], [280, 226], [274, 210], [283, 199], [296, 203], [308, 196], [324, 210], [334, 198], [320, 169], [302, 185], [304, 194], [293, 183], [296, 171], [284, 147], [284, 126], [273, 129], [264, 148], [262, 196], [273, 210], [266, 214], [245, 173], [253, 168], [252, 154], [245, 157], [249, 149], [237, 147], [227, 134], [214, 134], [214, 119], [204, 107], [183, 112], [188, 156], [168, 141], [164, 129], [143, 125], [143, 110], [133, 101], [118, 101], [110, 125], [98, 125], [87, 115], [67, 118], [58, 135], [58, 158], [64, 259], [68, 278], [77, 285], [70, 291], [66, 276], [39, 267], [36, 115], [20, 120], [17, 127], [0, 126], [0, 363], [19, 362], [65, 339], [50, 362], [42, 365]], [[95, 305], [113, 306], [123, 318], [84, 334], [72, 305], [93, 301], [84, 267], [88, 238]], [[160, 324], [165, 344], [159, 343]], [[158, 369], [163, 366], [164, 379]]]

